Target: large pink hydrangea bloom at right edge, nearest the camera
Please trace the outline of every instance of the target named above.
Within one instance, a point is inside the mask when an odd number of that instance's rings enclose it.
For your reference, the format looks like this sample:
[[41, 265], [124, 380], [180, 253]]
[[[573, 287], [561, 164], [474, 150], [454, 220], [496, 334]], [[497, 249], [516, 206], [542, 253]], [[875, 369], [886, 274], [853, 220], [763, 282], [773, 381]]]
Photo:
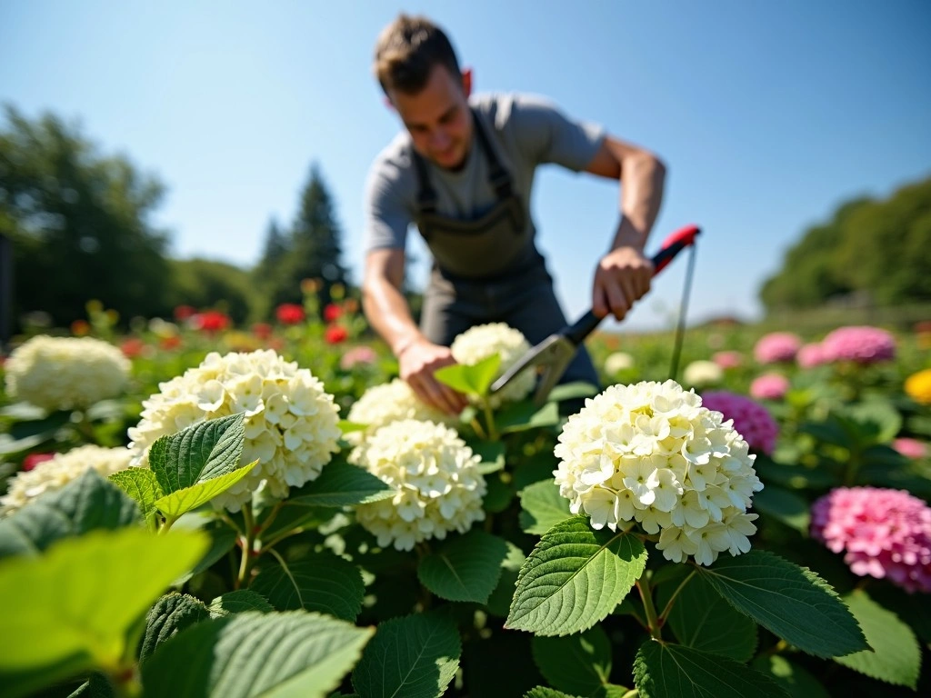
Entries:
[[854, 574], [931, 592], [931, 508], [905, 490], [831, 490], [812, 506], [811, 533]]

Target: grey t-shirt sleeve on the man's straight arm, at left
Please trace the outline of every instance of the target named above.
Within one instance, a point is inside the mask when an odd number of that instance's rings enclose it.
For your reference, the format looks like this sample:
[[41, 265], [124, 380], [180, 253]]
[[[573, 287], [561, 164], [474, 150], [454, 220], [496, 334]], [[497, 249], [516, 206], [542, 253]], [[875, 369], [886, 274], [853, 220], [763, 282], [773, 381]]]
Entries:
[[372, 165], [365, 186], [364, 250], [400, 248], [407, 242], [411, 212], [404, 204], [400, 171], [385, 161]]

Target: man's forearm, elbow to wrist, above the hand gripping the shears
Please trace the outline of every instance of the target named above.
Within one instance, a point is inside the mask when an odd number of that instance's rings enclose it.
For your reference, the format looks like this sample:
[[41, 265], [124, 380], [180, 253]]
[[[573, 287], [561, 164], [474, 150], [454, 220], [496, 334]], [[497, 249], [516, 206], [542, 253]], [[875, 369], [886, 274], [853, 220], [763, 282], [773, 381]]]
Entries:
[[633, 247], [642, 252], [663, 202], [666, 168], [653, 155], [628, 155], [621, 181], [621, 222], [611, 248]]

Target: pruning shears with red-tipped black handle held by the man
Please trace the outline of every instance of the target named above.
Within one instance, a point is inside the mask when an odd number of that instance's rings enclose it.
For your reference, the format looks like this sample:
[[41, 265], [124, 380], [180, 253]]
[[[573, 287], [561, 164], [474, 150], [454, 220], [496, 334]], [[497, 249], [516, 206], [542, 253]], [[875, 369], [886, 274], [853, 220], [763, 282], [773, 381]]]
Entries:
[[[701, 229], [697, 225], [686, 225], [669, 235], [651, 260], [654, 266], [653, 275], [655, 276], [665, 269], [668, 263], [683, 249], [694, 245], [695, 236], [700, 232]], [[521, 356], [500, 378], [492, 383], [490, 394], [494, 395], [501, 391], [525, 370], [542, 370], [543, 375], [540, 382], [537, 383], [536, 392], [533, 395], [533, 403], [537, 407], [542, 407], [546, 402], [546, 397], [549, 396], [562, 374], [569, 367], [569, 363], [573, 360], [579, 345], [599, 326], [601, 319], [593, 311], [589, 310], [575, 324], [567, 325], [558, 332], [546, 337], [545, 340], [539, 342], [524, 356]]]

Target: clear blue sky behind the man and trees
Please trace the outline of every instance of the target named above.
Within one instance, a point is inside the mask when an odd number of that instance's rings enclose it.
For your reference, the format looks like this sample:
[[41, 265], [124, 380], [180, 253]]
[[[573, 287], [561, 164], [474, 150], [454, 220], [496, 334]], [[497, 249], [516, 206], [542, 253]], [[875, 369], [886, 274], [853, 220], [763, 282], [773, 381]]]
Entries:
[[[807, 226], [931, 175], [925, 0], [0, 0], [0, 101], [61, 114], [164, 181], [155, 222], [178, 257], [255, 262], [317, 162], [358, 280], [363, 181], [399, 128], [371, 51], [401, 10], [449, 31], [477, 90], [546, 95], [667, 162], [648, 248], [703, 227], [691, 321], [757, 315], [762, 281]], [[539, 245], [572, 318], [587, 310], [617, 198], [616, 183], [555, 166], [538, 178]], [[668, 324], [685, 266], [604, 329]]]

